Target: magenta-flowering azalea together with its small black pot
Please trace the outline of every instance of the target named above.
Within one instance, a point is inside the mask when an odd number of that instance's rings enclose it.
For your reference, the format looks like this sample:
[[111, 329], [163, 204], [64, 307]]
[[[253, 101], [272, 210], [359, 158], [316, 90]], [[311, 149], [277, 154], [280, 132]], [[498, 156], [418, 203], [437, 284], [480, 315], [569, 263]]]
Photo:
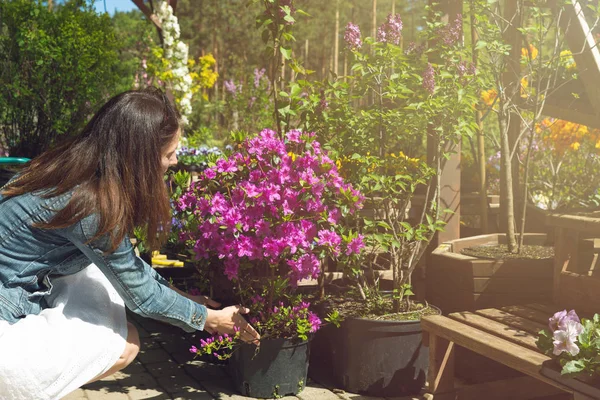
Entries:
[[298, 282], [318, 278], [326, 257], [360, 252], [362, 238], [340, 221], [362, 197], [313, 134], [280, 139], [265, 129], [238, 149], [201, 172], [176, 208], [190, 216], [186, 243], [251, 309], [261, 344], [237, 346], [238, 335], [222, 335], [192, 351], [232, 351], [232, 377], [244, 395], [294, 394], [306, 384], [307, 341], [321, 325]]

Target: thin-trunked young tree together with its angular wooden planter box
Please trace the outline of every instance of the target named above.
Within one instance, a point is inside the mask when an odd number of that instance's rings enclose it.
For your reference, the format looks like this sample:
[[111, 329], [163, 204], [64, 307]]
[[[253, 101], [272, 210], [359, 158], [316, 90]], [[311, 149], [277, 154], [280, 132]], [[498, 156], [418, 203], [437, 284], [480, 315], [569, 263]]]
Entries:
[[[546, 125], [556, 121], [544, 119], [544, 114], [557, 111], [556, 107], [548, 107], [548, 102], [559, 84], [576, 77], [572, 68], [565, 66], [566, 60], [572, 58], [565, 53], [563, 36], [556, 33], [559, 19], [568, 20], [559, 15], [566, 15], [572, 5], [562, 5], [561, 12], [550, 12], [535, 4], [526, 7], [523, 2], [518, 3], [514, 10], [507, 9], [504, 18], [498, 17], [493, 3], [473, 3], [477, 24], [471, 29], [477, 30], [480, 38], [474, 45], [483, 53], [478, 65], [479, 83], [484, 88], [481, 107], [488, 116], [487, 122], [489, 117], [495, 117], [492, 122], [497, 124], [486, 126], [497, 131], [496, 137], [488, 137], [495, 142], [499, 156], [502, 233], [458, 239], [436, 249], [427, 269], [428, 291], [436, 296], [432, 300], [444, 305], [443, 311], [551, 297], [551, 238], [542, 233], [526, 233], [525, 217], [531, 209], [528, 204], [540, 203], [544, 191], [554, 197], [559, 190], [544, 182], [554, 171], [552, 182], [556, 183], [562, 168], [560, 161], [553, 164], [547, 157], [547, 139], [552, 130]], [[520, 21], [524, 21], [523, 26]], [[569, 136], [568, 131], [561, 133], [564, 139]], [[542, 167], [542, 158], [551, 165]], [[532, 177], [537, 181], [531, 182]], [[572, 182], [573, 188], [585, 186]], [[545, 229], [540, 227], [539, 232]], [[452, 290], [445, 289], [448, 282]]]

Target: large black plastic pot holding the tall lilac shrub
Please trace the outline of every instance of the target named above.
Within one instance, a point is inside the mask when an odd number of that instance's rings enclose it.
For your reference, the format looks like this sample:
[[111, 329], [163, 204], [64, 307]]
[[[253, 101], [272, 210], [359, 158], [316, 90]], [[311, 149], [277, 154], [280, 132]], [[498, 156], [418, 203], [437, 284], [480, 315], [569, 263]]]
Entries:
[[395, 397], [418, 394], [427, 378], [429, 349], [420, 321], [349, 318], [320, 329], [309, 376], [348, 392]]

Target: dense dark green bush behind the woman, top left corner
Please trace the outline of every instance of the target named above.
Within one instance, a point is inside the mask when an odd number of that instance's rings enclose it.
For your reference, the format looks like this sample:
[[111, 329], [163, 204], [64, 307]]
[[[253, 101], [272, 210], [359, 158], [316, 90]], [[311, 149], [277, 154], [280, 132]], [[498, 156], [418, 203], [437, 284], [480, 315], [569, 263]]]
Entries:
[[35, 157], [115, 94], [117, 46], [110, 17], [84, 1], [52, 11], [0, 2], [0, 136], [10, 155]]

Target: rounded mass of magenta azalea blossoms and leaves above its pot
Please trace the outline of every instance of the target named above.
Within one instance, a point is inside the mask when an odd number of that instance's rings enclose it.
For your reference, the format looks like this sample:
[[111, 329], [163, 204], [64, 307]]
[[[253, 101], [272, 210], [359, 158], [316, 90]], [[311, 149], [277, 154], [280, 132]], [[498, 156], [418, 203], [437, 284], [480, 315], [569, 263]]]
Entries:
[[204, 170], [176, 209], [190, 216], [184, 236], [196, 258], [221, 265], [242, 303], [264, 295], [269, 312], [317, 278], [326, 257], [360, 253], [362, 237], [341, 221], [361, 201], [312, 134], [281, 140], [266, 129]]

